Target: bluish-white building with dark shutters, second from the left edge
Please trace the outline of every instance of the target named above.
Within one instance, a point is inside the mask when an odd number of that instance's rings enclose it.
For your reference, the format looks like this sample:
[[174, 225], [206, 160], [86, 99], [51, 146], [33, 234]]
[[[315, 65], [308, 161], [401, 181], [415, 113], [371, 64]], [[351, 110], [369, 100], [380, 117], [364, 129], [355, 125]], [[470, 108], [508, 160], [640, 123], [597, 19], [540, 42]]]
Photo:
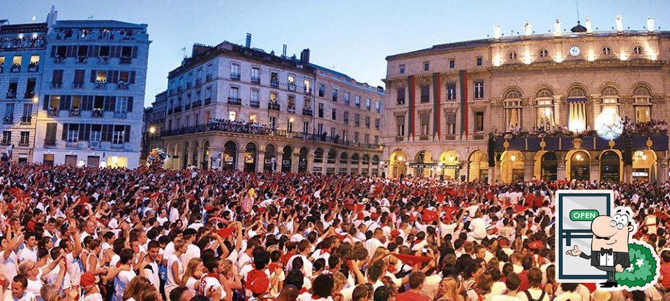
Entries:
[[147, 24], [47, 17], [33, 161], [134, 168], [140, 162]]

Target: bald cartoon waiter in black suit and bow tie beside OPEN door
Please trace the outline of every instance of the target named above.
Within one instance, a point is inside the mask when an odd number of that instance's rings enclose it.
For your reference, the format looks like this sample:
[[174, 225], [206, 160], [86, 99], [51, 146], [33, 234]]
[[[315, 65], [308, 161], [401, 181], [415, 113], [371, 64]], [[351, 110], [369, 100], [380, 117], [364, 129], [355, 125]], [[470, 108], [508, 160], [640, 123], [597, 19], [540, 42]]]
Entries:
[[618, 284], [614, 279], [614, 273], [623, 272], [625, 268], [630, 267], [628, 240], [636, 229], [632, 210], [622, 206], [616, 207], [612, 217], [600, 215], [591, 221], [593, 239], [590, 255], [581, 252], [576, 245], [567, 254], [590, 259], [594, 268], [606, 271], [607, 281], [600, 284], [600, 287], [616, 287]]

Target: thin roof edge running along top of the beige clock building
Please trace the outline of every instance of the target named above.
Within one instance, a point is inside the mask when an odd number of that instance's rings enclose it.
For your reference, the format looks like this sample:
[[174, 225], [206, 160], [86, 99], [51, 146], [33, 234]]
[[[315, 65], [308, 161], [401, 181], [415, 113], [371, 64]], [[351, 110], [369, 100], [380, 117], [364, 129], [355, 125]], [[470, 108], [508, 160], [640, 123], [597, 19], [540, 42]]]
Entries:
[[[576, 26], [575, 26], [576, 27]], [[508, 36], [508, 37], [501, 37], [498, 39], [494, 38], [485, 38], [485, 39], [479, 39], [479, 40], [467, 40], [467, 41], [462, 41], [462, 42], [455, 42], [455, 43], [445, 43], [445, 44], [439, 44], [439, 45], [434, 45], [433, 47], [429, 48], [424, 48], [424, 49], [419, 49], [415, 50], [412, 52], [405, 52], [401, 54], [394, 54], [386, 57], [386, 60], [392, 60], [392, 59], [400, 59], [403, 57], [408, 57], [408, 56], [415, 56], [419, 54], [431, 54], [431, 53], [436, 53], [436, 52], [445, 52], [449, 50], [459, 50], [459, 49], [468, 49], [468, 48], [475, 48], [475, 47], [489, 47], [489, 45], [497, 44], [497, 43], [518, 43], [518, 42], [523, 42], [523, 41], [537, 41], [537, 40], [552, 40], [552, 39], [565, 39], [565, 38], [587, 38], [587, 37], [595, 37], [595, 38], [605, 38], [605, 37], [616, 37], [616, 36], [662, 36], [662, 37], [669, 37], [670, 38], [670, 31], [654, 31], [654, 32], [649, 32], [649, 31], [594, 31], [593, 33], [586, 33], [586, 32], [567, 32], [567, 33], [561, 33], [560, 35], [556, 36], [554, 33], [544, 33], [544, 34], [534, 34], [532, 36]]]

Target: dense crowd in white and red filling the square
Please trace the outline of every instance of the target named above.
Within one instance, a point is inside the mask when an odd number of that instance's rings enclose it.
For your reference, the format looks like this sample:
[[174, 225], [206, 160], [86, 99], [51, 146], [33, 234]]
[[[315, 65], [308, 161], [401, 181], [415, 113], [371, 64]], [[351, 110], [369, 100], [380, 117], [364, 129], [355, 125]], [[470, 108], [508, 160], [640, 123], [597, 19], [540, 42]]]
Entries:
[[[645, 291], [555, 278], [553, 193], [611, 189]], [[670, 185], [0, 166], [3, 300], [662, 300]]]

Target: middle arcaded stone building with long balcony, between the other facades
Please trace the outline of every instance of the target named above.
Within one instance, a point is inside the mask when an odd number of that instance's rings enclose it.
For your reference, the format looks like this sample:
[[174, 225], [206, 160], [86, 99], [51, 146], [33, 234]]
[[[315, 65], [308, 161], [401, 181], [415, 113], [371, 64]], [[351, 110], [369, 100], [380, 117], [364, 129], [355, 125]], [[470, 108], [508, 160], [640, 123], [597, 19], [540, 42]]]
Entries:
[[383, 89], [310, 63], [308, 49], [194, 45], [168, 81], [167, 167], [380, 173]]

